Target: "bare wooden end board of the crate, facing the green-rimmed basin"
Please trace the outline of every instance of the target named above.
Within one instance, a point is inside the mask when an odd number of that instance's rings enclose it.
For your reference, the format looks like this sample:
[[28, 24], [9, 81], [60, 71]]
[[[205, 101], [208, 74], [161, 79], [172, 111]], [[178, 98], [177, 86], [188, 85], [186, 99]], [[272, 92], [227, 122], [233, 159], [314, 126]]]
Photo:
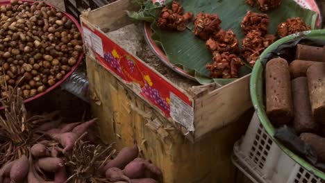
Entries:
[[239, 119], [252, 107], [249, 76], [198, 98], [194, 107], [195, 139]]

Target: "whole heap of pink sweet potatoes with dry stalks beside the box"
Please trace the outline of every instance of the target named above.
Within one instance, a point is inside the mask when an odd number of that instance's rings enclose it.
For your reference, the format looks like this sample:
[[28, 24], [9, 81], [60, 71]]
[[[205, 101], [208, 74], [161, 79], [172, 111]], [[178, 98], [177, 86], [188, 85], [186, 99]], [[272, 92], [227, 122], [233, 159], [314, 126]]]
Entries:
[[112, 146], [101, 144], [90, 130], [97, 119], [62, 123], [59, 112], [31, 116], [21, 89], [7, 92], [0, 116], [1, 183], [154, 183], [162, 176], [149, 160], [138, 157], [136, 144], [112, 159]]

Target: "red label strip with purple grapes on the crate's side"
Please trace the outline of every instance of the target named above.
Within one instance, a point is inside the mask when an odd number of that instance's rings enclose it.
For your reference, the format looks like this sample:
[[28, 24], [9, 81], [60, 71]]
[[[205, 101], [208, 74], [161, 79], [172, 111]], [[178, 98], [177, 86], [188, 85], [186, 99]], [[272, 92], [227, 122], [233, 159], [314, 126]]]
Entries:
[[106, 35], [97, 30], [90, 30], [85, 24], [83, 34], [86, 46], [92, 48], [97, 60], [106, 69], [116, 73], [125, 82], [137, 83], [141, 88], [140, 94], [152, 105], [159, 107], [167, 117], [172, 117], [189, 131], [194, 131], [194, 112], [188, 96]]

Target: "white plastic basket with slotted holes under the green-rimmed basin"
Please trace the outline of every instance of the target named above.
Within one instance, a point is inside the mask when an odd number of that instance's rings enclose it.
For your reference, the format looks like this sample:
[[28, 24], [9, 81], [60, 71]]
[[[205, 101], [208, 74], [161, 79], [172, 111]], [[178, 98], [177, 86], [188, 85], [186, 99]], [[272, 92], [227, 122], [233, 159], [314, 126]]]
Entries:
[[322, 183], [272, 141], [257, 114], [233, 148], [233, 164], [254, 183]]

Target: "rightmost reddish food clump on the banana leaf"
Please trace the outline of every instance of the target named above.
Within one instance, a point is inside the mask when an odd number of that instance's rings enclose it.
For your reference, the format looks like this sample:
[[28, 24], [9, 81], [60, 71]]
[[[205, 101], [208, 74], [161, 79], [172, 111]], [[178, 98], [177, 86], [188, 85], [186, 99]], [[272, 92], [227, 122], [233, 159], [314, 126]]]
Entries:
[[278, 25], [278, 37], [285, 37], [306, 30], [310, 30], [310, 26], [307, 26], [300, 17], [295, 17]]

